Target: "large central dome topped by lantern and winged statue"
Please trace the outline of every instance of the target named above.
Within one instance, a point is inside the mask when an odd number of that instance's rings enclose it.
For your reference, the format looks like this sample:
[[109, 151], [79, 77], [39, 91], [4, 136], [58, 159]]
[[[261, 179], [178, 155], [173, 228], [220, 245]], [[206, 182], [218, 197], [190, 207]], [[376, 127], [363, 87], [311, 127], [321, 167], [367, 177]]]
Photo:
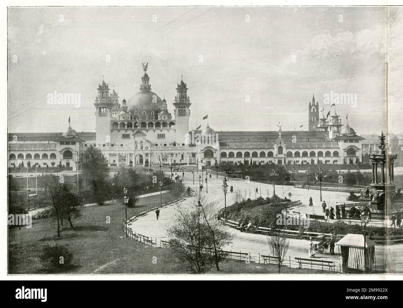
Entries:
[[133, 111], [158, 111], [163, 103], [162, 99], [151, 91], [150, 77], [147, 74], [147, 65], [143, 64], [144, 75], [141, 77], [140, 92], [127, 101], [127, 107]]

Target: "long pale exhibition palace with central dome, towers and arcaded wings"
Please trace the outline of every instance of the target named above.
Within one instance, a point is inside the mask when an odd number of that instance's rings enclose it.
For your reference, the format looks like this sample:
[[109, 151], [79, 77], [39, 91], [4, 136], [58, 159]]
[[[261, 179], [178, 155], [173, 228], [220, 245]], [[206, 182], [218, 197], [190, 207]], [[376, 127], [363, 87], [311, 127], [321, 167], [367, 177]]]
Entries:
[[[308, 107], [308, 130], [217, 131], [207, 125], [189, 129], [191, 101], [187, 84], [177, 83], [169, 112], [167, 101], [152, 91], [148, 64], [143, 64], [139, 92], [120, 101], [102, 80], [94, 101], [96, 132], [9, 133], [8, 167], [64, 165], [75, 170], [75, 154], [92, 145], [99, 148], [110, 166], [149, 166], [158, 163], [214, 165], [215, 162], [295, 164], [359, 164], [377, 151], [377, 136], [359, 136], [342, 123], [331, 108], [325, 117], [312, 97]], [[134, 91], [133, 91], [134, 92]], [[126, 97], [129, 97], [125, 95]], [[322, 108], [323, 109], [323, 108]], [[74, 115], [73, 115], [74, 117]], [[75, 124], [74, 126], [79, 126]], [[62, 128], [61, 128], [62, 130]], [[402, 135], [388, 135], [394, 153], [400, 153]], [[395, 165], [402, 165], [398, 155]]]

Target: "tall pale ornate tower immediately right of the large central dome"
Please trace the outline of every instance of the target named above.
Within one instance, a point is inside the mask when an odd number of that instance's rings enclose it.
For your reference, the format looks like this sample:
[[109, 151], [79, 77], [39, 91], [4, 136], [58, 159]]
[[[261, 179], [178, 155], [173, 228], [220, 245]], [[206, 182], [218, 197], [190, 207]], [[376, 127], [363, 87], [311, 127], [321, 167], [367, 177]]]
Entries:
[[174, 105], [174, 115], [175, 115], [175, 140], [177, 143], [189, 143], [189, 116], [190, 116], [190, 99], [187, 96], [186, 83], [181, 79], [181, 83], [178, 83], [176, 88], [177, 95], [175, 96]]

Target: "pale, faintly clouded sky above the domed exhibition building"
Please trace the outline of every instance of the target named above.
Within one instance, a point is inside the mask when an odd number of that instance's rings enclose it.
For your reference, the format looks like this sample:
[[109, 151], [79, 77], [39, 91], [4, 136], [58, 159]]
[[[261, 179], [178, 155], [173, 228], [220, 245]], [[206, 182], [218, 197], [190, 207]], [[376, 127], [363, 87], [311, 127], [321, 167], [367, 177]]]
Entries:
[[[8, 8], [8, 131], [95, 131], [97, 87], [120, 101], [152, 91], [173, 114], [187, 83], [190, 129], [307, 130], [315, 94], [352, 93], [336, 112], [358, 134], [403, 132], [403, 25], [397, 7]], [[386, 62], [388, 114], [386, 116]], [[49, 105], [48, 93], [81, 105]], [[334, 112], [334, 107], [332, 108]], [[299, 126], [303, 125], [303, 128]]]

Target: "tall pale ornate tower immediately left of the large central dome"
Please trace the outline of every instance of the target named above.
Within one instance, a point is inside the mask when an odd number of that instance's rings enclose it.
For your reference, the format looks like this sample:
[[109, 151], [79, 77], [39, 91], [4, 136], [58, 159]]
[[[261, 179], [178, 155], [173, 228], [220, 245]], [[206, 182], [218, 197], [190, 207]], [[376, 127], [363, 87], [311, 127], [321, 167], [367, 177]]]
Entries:
[[[96, 115], [96, 143], [97, 147], [102, 147], [110, 141], [110, 118], [113, 106], [111, 97], [109, 96], [108, 84], [102, 78], [102, 84], [98, 85], [98, 96], [95, 98], [95, 115]], [[117, 95], [117, 94], [116, 94]]]

